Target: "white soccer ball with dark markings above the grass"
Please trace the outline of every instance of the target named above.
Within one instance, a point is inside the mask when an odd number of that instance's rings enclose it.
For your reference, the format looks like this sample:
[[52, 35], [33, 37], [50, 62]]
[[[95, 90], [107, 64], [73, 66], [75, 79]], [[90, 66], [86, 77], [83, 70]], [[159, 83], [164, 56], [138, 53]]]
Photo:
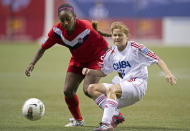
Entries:
[[22, 114], [29, 120], [39, 120], [45, 113], [43, 102], [37, 98], [30, 98], [25, 101], [22, 107]]

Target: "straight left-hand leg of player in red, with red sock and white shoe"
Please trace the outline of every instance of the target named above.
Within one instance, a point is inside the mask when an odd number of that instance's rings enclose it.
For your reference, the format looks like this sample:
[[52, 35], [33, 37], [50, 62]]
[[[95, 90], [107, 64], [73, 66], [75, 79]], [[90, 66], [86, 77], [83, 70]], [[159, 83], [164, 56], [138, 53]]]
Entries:
[[81, 83], [83, 78], [84, 77], [82, 75], [73, 72], [67, 72], [66, 74], [64, 86], [65, 101], [69, 108], [69, 111], [74, 118], [73, 120], [70, 119], [71, 122], [66, 125], [67, 127], [80, 126], [80, 124], [84, 124], [82, 115], [80, 113], [78, 96], [76, 94], [79, 84]]

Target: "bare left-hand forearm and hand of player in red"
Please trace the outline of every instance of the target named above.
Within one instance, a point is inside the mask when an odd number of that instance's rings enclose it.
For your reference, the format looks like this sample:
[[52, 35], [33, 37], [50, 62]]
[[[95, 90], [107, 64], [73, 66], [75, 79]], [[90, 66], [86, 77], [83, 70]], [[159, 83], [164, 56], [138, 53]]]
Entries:
[[36, 52], [34, 58], [32, 59], [32, 62], [29, 64], [29, 66], [28, 66], [28, 67], [26, 68], [26, 70], [25, 70], [26, 76], [28, 76], [28, 77], [30, 76], [32, 70], [34, 69], [34, 65], [35, 65], [35, 64], [38, 62], [38, 60], [43, 56], [44, 52], [45, 52], [45, 49], [43, 49], [43, 48], [40, 48], [40, 49]]

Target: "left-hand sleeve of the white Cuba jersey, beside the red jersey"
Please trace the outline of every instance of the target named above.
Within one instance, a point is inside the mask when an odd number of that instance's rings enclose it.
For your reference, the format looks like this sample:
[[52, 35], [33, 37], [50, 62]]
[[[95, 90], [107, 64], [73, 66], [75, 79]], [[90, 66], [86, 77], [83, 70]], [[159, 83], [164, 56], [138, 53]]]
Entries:
[[112, 49], [108, 50], [103, 56], [103, 66], [101, 71], [106, 75], [114, 71], [112, 66], [112, 51]]

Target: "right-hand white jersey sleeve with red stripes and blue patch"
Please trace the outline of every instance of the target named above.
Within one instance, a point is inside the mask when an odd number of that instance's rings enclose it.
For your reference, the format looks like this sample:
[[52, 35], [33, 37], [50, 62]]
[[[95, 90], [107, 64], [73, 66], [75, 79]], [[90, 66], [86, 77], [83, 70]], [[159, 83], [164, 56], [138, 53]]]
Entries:
[[146, 66], [150, 66], [152, 64], [158, 63], [159, 57], [150, 49], [148, 49], [143, 44], [139, 44], [138, 48], [139, 57], [142, 63], [145, 63]]

